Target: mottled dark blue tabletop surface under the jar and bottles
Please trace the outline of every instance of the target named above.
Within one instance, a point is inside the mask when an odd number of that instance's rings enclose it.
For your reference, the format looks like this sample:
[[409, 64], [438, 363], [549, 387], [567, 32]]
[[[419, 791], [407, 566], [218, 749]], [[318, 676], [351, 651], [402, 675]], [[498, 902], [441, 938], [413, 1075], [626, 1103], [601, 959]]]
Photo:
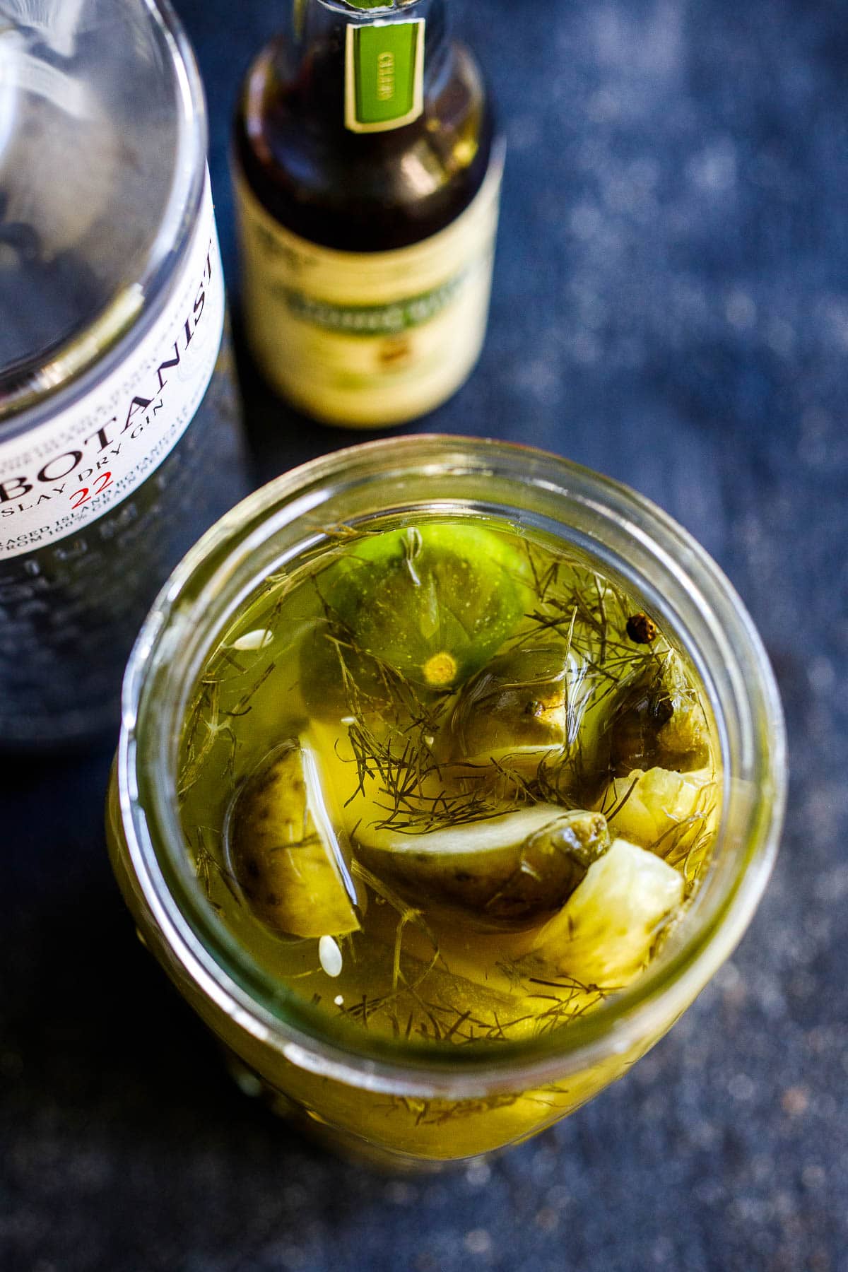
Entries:
[[[231, 282], [229, 116], [284, 3], [178, 4], [210, 93]], [[491, 1165], [390, 1182], [230, 1088], [111, 883], [107, 757], [8, 766], [4, 1268], [848, 1268], [845, 11], [456, 10], [510, 155], [486, 354], [421, 427], [600, 468], [716, 556], [787, 709], [773, 883], [732, 962], [627, 1080]], [[262, 480], [351, 441], [272, 401], [247, 363], [244, 383]]]

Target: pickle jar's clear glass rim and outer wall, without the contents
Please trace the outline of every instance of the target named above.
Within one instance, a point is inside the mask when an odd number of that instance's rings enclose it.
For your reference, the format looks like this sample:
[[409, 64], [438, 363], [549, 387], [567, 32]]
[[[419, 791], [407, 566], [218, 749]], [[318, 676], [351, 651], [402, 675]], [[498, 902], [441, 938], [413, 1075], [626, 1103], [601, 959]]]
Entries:
[[[270, 575], [376, 514], [478, 514], [589, 553], [645, 599], [692, 659], [715, 715], [723, 794], [709, 873], [648, 969], [547, 1037], [469, 1053], [352, 1044], [281, 993], [203, 904], [179, 827], [177, 754], [210, 651]], [[765, 887], [784, 803], [781, 706], [732, 588], [647, 500], [553, 455], [496, 441], [402, 438], [305, 464], [192, 550], [147, 618], [125, 681], [108, 800], [113, 866], [150, 950], [224, 1043], [245, 1090], [350, 1152], [409, 1166], [535, 1133], [620, 1077], [741, 937]], [[451, 1135], [442, 1124], [450, 1118]]]

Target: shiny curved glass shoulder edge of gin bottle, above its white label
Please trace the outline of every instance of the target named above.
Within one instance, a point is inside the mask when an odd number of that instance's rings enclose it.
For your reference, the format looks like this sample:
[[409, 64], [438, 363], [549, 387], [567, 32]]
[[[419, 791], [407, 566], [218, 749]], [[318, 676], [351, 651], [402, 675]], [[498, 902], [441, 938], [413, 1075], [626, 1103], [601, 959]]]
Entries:
[[[155, 233], [135, 277], [104, 294], [99, 308], [72, 333], [33, 356], [0, 365], [0, 438], [37, 427], [74, 406], [126, 359], [168, 303], [174, 265], [191, 242], [203, 197], [209, 141], [206, 97], [191, 45], [169, 0], [136, 0], [147, 14], [161, 74], [173, 81], [177, 108], [173, 178], [158, 211]], [[137, 160], [135, 160], [137, 163]]]

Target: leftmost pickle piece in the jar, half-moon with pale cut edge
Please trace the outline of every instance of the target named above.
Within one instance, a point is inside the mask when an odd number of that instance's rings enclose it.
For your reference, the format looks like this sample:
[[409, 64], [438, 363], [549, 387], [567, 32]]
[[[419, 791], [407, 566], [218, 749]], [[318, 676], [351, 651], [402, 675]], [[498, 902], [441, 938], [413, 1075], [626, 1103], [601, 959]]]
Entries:
[[270, 927], [304, 937], [359, 930], [348, 842], [334, 820], [315, 756], [296, 739], [242, 789], [230, 823], [233, 868]]

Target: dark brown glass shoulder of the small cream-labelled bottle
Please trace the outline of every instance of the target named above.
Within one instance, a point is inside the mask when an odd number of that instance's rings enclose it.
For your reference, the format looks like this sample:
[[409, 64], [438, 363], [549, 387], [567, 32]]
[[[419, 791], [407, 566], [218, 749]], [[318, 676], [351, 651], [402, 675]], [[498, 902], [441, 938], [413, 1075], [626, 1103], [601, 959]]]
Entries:
[[495, 137], [491, 97], [469, 51], [454, 45], [404, 127], [345, 127], [343, 73], [332, 52], [281, 74], [285, 48], [267, 46], [244, 81], [234, 163], [253, 196], [286, 229], [338, 251], [409, 247], [450, 225], [479, 191]]

